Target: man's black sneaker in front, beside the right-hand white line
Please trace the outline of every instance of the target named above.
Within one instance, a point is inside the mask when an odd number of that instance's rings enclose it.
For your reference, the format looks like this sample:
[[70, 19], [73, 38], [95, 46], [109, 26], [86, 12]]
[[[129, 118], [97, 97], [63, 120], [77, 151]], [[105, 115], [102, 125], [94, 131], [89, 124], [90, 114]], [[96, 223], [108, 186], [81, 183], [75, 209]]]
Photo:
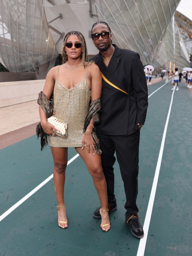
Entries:
[[132, 215], [127, 221], [127, 225], [130, 227], [131, 233], [136, 238], [143, 238], [144, 232], [141, 224], [139, 223], [139, 218], [135, 215]]

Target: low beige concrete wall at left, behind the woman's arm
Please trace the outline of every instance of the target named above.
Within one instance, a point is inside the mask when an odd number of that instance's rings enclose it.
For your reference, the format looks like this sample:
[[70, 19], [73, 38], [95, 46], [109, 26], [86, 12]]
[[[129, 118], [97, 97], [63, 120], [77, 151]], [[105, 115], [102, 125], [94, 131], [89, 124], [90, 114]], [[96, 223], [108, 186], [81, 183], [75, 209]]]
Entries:
[[0, 108], [36, 100], [44, 84], [45, 79], [0, 83]]

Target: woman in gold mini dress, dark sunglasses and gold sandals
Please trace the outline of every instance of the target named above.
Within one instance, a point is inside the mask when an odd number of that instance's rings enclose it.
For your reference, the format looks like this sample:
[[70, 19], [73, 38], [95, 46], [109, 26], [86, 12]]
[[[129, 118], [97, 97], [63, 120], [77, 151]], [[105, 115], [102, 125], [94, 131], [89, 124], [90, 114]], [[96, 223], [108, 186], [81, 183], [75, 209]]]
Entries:
[[51, 125], [40, 107], [40, 120], [43, 131], [48, 135], [54, 161], [53, 180], [56, 191], [58, 225], [68, 226], [64, 203], [64, 184], [67, 165], [67, 149], [74, 147], [86, 164], [99, 195], [102, 216], [101, 228], [110, 228], [106, 180], [101, 165], [100, 150], [92, 136], [94, 116], [89, 118], [90, 101], [101, 96], [102, 78], [99, 67], [87, 61], [86, 42], [78, 31], [66, 34], [62, 50], [63, 64], [50, 69], [46, 76], [43, 94], [50, 100], [53, 94], [53, 113], [67, 123], [67, 135], [60, 138], [56, 128]]

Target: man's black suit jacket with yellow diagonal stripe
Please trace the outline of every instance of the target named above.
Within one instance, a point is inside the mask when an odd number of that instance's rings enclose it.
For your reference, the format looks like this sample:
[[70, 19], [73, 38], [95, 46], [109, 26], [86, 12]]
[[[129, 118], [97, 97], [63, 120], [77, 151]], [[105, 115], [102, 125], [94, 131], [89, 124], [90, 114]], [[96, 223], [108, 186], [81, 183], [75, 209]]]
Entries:
[[138, 123], [145, 123], [148, 107], [146, 77], [138, 53], [113, 46], [115, 51], [108, 67], [100, 53], [90, 61], [95, 61], [105, 77], [130, 96], [103, 80], [101, 122], [97, 124], [97, 131], [104, 135], [130, 135], [138, 130]]

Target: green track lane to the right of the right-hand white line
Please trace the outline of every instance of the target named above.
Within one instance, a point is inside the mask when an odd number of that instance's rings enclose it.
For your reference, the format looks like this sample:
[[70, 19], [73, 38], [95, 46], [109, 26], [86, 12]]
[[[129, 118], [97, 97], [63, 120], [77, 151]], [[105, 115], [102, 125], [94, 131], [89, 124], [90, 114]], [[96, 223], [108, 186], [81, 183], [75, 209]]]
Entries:
[[145, 256], [192, 255], [191, 105], [192, 94], [182, 83], [174, 93]]

